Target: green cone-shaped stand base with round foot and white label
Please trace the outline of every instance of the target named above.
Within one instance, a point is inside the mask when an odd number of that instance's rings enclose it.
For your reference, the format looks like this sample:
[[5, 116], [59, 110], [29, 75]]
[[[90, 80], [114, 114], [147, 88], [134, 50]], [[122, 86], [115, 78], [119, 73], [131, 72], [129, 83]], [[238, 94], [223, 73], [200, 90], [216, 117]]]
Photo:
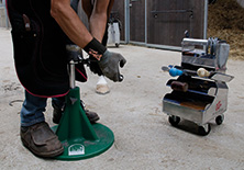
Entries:
[[60, 123], [52, 127], [64, 146], [58, 160], [80, 160], [98, 156], [108, 150], [114, 136], [102, 124], [90, 124], [80, 105], [79, 88], [70, 89]]

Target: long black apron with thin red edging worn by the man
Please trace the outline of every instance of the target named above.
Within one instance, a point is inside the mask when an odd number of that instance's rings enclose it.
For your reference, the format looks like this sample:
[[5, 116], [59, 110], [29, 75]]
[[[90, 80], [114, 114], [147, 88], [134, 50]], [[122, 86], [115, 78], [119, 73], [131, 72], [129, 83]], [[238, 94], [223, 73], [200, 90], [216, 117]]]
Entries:
[[[62, 97], [69, 91], [67, 36], [51, 16], [51, 0], [8, 0], [14, 64], [23, 87], [37, 97]], [[86, 81], [84, 65], [77, 80]]]

